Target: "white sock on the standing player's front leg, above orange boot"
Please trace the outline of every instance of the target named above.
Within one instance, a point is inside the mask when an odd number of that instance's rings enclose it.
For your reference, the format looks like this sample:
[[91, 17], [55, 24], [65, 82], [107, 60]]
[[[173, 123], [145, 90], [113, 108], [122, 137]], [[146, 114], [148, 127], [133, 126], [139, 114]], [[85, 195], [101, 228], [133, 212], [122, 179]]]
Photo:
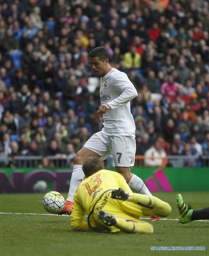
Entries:
[[76, 192], [76, 189], [78, 188], [81, 181], [84, 179], [84, 172], [82, 170], [82, 165], [74, 164], [73, 166], [73, 172], [70, 180], [70, 188], [68, 193], [68, 198], [66, 201], [73, 202], [73, 198]]

